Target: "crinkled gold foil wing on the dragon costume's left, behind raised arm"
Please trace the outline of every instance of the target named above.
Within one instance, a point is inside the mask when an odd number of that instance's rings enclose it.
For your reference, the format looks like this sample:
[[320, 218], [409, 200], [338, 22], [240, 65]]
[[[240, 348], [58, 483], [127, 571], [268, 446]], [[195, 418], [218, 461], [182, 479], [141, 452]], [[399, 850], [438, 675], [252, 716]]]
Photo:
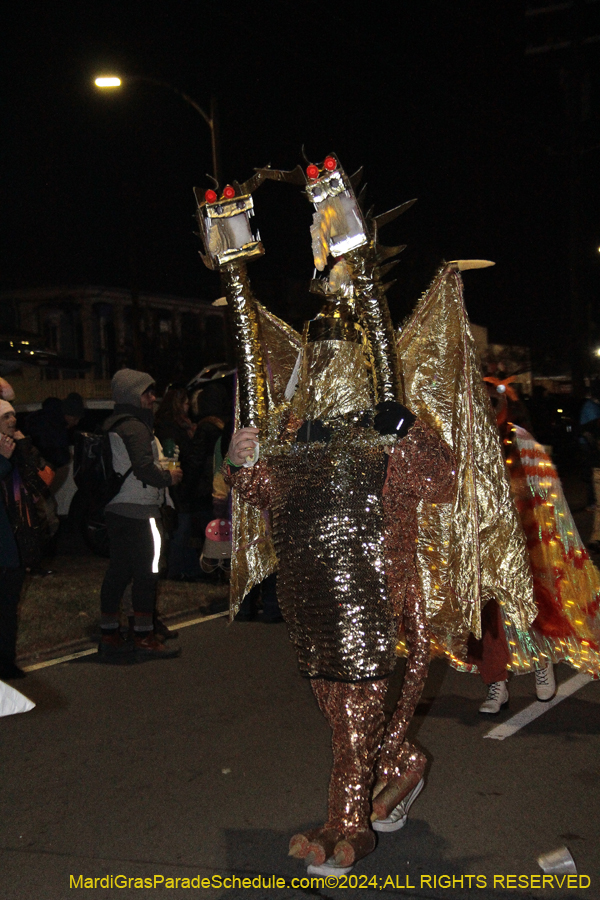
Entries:
[[[267, 424], [264, 427], [268, 431], [271, 423], [275, 427], [277, 414], [285, 403], [285, 388], [302, 341], [293, 328], [260, 303], [256, 303], [256, 318], [267, 395]], [[277, 569], [277, 556], [270, 536], [269, 513], [244, 503], [239, 493], [233, 491], [232, 516], [230, 621], [248, 591]]]

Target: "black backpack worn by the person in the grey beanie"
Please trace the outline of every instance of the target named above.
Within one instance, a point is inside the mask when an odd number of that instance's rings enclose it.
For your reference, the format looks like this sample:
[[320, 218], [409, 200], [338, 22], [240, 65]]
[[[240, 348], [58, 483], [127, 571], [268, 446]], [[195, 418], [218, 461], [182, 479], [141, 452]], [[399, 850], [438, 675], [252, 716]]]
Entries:
[[104, 507], [117, 496], [132, 466], [122, 475], [113, 468], [110, 431], [117, 422], [133, 419], [119, 416], [109, 431], [82, 431], [77, 435], [73, 458], [73, 480], [77, 489], [93, 496], [98, 506]]

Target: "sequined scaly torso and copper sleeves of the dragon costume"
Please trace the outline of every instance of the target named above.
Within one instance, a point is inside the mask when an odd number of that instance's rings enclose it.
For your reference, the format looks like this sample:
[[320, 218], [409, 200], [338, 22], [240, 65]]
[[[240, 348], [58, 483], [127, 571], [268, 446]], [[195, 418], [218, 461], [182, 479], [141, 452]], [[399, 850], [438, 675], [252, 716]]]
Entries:
[[328, 441], [282, 442], [233, 480], [272, 510], [279, 603], [302, 674], [384, 678], [407, 590], [420, 596], [417, 504], [448, 499], [453, 457], [419, 421], [389, 456], [393, 438], [344, 418], [328, 425]]

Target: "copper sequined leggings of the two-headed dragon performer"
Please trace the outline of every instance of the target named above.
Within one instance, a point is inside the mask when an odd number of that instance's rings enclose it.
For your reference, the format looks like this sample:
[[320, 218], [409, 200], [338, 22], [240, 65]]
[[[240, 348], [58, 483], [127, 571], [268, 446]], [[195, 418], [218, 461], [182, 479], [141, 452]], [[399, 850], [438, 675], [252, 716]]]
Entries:
[[377, 776], [386, 783], [399, 781], [411, 771], [416, 771], [420, 777], [425, 768], [423, 754], [405, 741], [429, 668], [429, 631], [421, 604], [407, 604], [404, 631], [409, 657], [402, 694], [385, 736], [384, 702], [389, 679], [359, 684], [321, 678], [311, 682], [332, 731], [333, 767], [325, 827], [342, 834], [369, 828], [371, 789], [378, 755]]

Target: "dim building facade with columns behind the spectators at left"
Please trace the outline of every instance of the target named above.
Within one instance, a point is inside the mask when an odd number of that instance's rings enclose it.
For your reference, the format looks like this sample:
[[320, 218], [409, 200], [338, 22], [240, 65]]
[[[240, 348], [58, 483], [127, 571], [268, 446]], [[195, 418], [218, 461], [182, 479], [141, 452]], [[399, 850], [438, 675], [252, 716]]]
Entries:
[[24, 391], [32, 400], [38, 399], [32, 392], [45, 397], [78, 390], [90, 398], [103, 396], [114, 373], [124, 366], [151, 372], [164, 387], [231, 355], [223, 307], [120, 288], [5, 291], [0, 293], [0, 331], [38, 335], [61, 357], [92, 364], [87, 371], [24, 367], [11, 382], [22, 381], [21, 396]]

